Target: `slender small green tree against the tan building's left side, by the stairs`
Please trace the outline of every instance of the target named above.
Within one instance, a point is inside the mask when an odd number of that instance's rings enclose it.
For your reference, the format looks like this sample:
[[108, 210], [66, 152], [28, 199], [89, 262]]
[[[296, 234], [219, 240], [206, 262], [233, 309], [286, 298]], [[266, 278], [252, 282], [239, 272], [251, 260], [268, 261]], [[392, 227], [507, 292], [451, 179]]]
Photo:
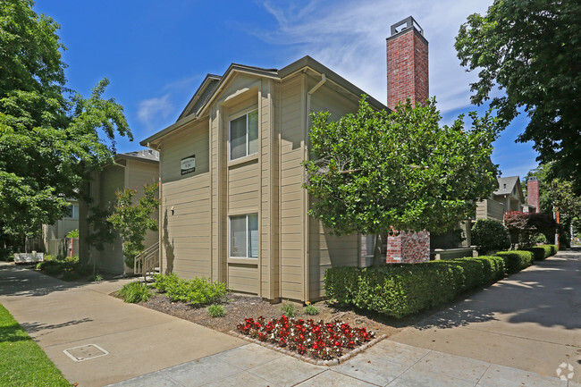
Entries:
[[157, 231], [157, 221], [151, 217], [159, 207], [156, 192], [156, 184], [146, 184], [143, 186], [143, 196], [137, 203], [133, 199], [138, 193], [137, 189], [116, 192], [117, 204], [108, 221], [121, 235], [125, 264], [130, 267], [133, 267], [135, 258], [145, 249], [143, 242], [147, 230]]

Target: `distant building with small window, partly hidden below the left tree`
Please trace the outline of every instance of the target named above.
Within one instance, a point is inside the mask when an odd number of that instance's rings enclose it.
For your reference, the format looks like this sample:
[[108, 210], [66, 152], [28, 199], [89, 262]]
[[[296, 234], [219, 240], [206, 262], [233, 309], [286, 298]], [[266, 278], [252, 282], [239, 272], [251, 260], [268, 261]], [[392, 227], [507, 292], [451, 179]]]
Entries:
[[76, 246], [77, 248], [74, 248], [74, 244], [67, 243], [64, 240], [69, 232], [78, 228], [79, 201], [77, 199], [69, 199], [69, 206], [65, 210], [62, 219], [56, 221], [55, 224], [42, 225], [42, 244], [46, 254], [55, 257], [78, 254], [78, 245]]

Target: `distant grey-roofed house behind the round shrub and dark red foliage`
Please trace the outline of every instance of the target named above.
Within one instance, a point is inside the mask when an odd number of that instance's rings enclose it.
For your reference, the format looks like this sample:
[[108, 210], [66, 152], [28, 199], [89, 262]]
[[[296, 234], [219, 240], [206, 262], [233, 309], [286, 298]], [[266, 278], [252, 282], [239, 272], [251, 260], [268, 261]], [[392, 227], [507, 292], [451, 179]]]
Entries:
[[[538, 184], [538, 181], [536, 181]], [[476, 219], [496, 219], [504, 221], [504, 214], [509, 211], [535, 212], [537, 204], [526, 203], [523, 189], [518, 176], [501, 177], [498, 179], [499, 188], [490, 198], [477, 203]], [[538, 185], [537, 185], [538, 198]], [[529, 198], [531, 196], [529, 195]]]

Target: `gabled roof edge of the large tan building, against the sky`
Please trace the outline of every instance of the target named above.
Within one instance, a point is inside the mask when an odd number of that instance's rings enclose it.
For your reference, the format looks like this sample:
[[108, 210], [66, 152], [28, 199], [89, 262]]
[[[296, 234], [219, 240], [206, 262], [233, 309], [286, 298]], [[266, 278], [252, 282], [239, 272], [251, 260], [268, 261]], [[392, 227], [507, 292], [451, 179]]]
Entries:
[[[314, 72], [318, 72], [319, 74], [324, 73], [327, 80], [330, 80], [339, 87], [348, 90], [355, 96], [359, 97], [362, 94], [367, 94], [361, 88], [358, 88], [357, 86], [349, 82], [349, 80], [345, 80], [336, 72], [333, 72], [329, 68], [325, 67], [323, 64], [318, 63], [315, 59], [311, 58], [308, 55], [300, 58], [296, 62], [290, 63], [288, 66], [283, 67], [281, 70], [265, 69], [261, 67], [232, 63], [228, 67], [228, 70], [226, 70], [226, 72], [224, 72], [222, 76], [212, 74], [208, 74], [206, 76], [206, 78], [202, 81], [202, 84], [194, 94], [194, 97], [190, 99], [186, 108], [183, 110], [183, 112], [181, 112], [177, 122], [168, 126], [164, 130], [158, 131], [153, 136], [150, 136], [147, 139], [142, 140], [141, 142], [139, 142], [139, 144], [141, 144], [144, 147], [147, 147], [148, 143], [153, 142], [156, 139], [161, 139], [162, 137], [169, 134], [173, 130], [177, 130], [181, 126], [189, 122], [195, 121], [198, 119], [198, 117], [203, 116], [206, 113], [207, 107], [211, 105], [212, 100], [218, 96], [221, 88], [223, 87], [223, 84], [230, 79], [234, 72], [245, 72], [266, 78], [272, 78], [275, 80], [283, 80], [284, 78], [287, 78], [290, 75], [293, 75], [297, 72], [303, 71], [306, 68], [309, 68]], [[374, 106], [376, 109], [379, 110], [387, 109], [387, 106], [383, 105], [374, 97], [367, 97], [367, 101], [369, 102], [370, 105]]]

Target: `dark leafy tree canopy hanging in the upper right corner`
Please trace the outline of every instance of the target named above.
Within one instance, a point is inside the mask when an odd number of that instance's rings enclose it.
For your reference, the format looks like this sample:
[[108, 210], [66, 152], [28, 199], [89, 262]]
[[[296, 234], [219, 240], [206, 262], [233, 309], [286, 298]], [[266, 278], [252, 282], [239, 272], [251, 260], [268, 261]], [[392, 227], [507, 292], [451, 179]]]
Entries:
[[581, 3], [495, 0], [462, 24], [456, 49], [479, 71], [472, 102], [492, 97], [505, 125], [524, 110], [530, 122], [518, 141], [535, 141], [539, 161], [581, 193]]

